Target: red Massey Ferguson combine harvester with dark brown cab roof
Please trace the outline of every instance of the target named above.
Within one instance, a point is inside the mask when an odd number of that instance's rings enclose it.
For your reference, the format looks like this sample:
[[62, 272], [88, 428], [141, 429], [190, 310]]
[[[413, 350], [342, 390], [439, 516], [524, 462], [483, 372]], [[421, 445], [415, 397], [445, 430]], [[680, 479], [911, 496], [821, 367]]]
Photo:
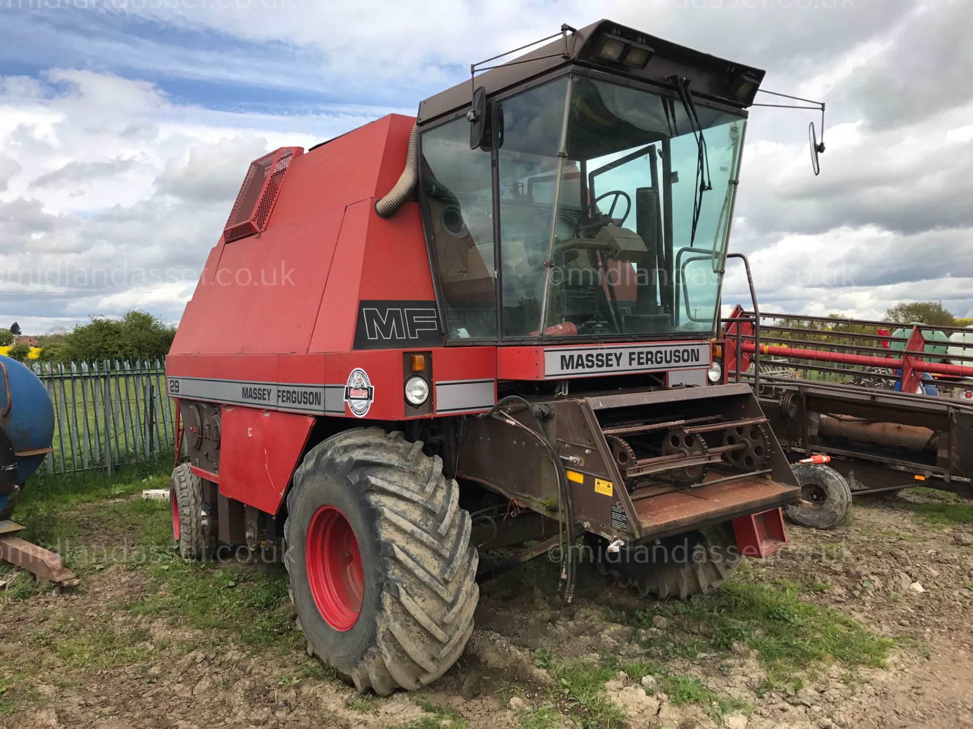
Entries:
[[763, 71], [609, 21], [544, 40], [253, 162], [166, 360], [181, 553], [281, 545], [359, 690], [450, 668], [481, 550], [584, 538], [566, 601], [584, 553], [686, 598], [800, 495], [714, 339]]

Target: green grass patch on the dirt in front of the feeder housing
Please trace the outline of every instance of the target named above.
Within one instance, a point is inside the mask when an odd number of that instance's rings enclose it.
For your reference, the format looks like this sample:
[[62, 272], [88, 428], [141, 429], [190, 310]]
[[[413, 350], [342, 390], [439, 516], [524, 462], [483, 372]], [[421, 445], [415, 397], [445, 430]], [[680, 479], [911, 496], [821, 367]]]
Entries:
[[[812, 590], [819, 589], [817, 583]], [[783, 587], [731, 579], [723, 587], [677, 608], [661, 604], [653, 608], [667, 611], [667, 617], [686, 617], [705, 623], [708, 643], [717, 651], [744, 642], [757, 657], [774, 684], [800, 675], [816, 664], [837, 662], [847, 669], [858, 666], [884, 666], [894, 641], [870, 633], [837, 610], [804, 602], [800, 583], [785, 582]], [[636, 625], [651, 623], [647, 615], [635, 617]], [[695, 637], [683, 639], [680, 631], [667, 631], [645, 641], [662, 658], [678, 655], [681, 643], [698, 648]]]

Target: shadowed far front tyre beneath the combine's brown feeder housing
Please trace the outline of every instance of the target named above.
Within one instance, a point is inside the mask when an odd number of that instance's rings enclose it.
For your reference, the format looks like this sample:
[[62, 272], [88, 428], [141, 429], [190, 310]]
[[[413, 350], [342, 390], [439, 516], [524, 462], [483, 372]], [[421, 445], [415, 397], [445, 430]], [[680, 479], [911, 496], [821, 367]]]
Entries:
[[686, 600], [722, 585], [739, 567], [737, 539], [730, 522], [662, 539], [659, 543], [606, 551], [608, 542], [589, 537], [598, 571], [642, 597]]

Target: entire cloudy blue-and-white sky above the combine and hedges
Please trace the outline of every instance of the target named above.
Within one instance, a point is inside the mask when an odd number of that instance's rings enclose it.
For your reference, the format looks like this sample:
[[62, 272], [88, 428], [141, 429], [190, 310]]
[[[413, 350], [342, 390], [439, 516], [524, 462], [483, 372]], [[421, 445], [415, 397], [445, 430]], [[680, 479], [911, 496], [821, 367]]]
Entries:
[[973, 316], [968, 0], [0, 0], [0, 326], [178, 321], [250, 160], [599, 17], [827, 101], [819, 177], [814, 115], [751, 114], [731, 249], [765, 310]]

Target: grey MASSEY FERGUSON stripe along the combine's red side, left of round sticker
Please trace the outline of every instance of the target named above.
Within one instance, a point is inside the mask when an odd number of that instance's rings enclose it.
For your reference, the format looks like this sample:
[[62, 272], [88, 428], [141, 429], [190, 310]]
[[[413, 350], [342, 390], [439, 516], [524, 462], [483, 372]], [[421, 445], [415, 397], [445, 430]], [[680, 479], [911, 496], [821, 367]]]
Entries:
[[166, 377], [168, 394], [285, 412], [344, 415], [343, 385]]

